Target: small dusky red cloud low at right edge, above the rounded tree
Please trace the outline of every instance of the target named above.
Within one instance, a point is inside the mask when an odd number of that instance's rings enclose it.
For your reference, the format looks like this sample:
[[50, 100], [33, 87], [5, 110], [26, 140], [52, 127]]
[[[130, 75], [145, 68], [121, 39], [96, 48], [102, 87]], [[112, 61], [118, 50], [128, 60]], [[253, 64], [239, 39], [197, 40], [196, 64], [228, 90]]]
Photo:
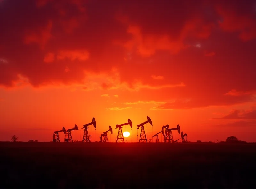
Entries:
[[232, 110], [229, 114], [214, 119], [256, 119], [256, 110], [239, 111]]

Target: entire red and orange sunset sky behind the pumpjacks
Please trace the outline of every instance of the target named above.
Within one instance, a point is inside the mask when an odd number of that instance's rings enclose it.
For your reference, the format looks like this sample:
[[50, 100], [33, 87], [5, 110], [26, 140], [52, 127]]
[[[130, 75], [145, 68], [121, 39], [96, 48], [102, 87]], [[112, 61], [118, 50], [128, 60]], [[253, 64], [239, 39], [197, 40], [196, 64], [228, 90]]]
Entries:
[[80, 140], [95, 117], [97, 141], [130, 118], [134, 142], [149, 116], [148, 138], [256, 142], [255, 0], [0, 0], [0, 17], [0, 140]]

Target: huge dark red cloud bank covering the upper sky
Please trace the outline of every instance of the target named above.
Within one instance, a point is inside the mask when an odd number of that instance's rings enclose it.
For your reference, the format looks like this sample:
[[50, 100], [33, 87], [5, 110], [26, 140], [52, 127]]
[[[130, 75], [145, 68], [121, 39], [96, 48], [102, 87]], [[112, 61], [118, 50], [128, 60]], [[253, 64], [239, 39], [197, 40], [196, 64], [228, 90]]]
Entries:
[[20, 78], [33, 87], [84, 84], [85, 71], [112, 77], [115, 68], [130, 87], [185, 84], [148, 93], [150, 100], [178, 99], [156, 109], [249, 102], [250, 95], [223, 94], [256, 90], [252, 7], [253, 1], [4, 0], [0, 59], [8, 63], [0, 64], [0, 85], [15, 87]]

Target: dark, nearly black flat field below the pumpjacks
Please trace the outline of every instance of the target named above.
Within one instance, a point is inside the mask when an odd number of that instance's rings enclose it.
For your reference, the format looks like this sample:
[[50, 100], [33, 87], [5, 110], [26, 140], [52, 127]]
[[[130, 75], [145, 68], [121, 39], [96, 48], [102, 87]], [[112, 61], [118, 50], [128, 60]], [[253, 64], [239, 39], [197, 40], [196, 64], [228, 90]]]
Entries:
[[256, 144], [2, 142], [0, 188], [256, 188]]

